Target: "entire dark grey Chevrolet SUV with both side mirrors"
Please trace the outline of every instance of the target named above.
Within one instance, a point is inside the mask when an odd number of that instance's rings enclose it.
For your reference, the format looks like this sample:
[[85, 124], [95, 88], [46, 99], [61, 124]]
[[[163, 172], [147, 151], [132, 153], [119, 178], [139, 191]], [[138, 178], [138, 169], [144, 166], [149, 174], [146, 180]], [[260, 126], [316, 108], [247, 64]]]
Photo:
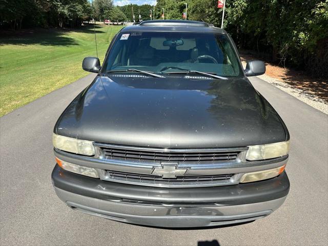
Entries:
[[[289, 193], [289, 132], [229, 34], [202, 22], [122, 28], [53, 132], [56, 194], [70, 208], [156, 227], [263, 218]], [[272, 226], [272, 225], [270, 225]], [[272, 229], [274, 230], [274, 229]]]

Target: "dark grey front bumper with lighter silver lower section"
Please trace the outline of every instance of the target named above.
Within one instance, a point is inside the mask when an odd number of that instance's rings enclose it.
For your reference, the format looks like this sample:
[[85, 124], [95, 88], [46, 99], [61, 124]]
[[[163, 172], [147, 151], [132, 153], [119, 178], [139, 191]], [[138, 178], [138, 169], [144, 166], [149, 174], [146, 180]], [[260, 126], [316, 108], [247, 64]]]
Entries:
[[157, 188], [74, 174], [55, 166], [56, 194], [76, 211], [156, 227], [210, 227], [247, 222], [278, 209], [289, 192], [286, 173], [234, 186]]

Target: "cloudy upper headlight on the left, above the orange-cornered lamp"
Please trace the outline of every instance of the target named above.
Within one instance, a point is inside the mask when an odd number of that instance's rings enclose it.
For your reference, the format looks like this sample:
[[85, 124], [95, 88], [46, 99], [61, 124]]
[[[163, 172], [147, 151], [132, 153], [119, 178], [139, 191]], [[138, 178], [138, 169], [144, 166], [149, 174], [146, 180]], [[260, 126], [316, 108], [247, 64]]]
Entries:
[[53, 146], [59, 150], [64, 150], [80, 155], [94, 155], [94, 147], [92, 145], [92, 141], [80, 140], [53, 134], [52, 142]]

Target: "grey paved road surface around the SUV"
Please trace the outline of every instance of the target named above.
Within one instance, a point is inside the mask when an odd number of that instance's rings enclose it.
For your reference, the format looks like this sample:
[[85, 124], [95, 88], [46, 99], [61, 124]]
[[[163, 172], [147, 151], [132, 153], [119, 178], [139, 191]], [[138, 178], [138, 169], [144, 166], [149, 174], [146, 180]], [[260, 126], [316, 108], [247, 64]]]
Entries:
[[74, 212], [55, 195], [51, 134], [56, 119], [93, 75], [2, 117], [1, 245], [327, 245], [328, 117], [274, 86], [251, 78], [291, 133], [291, 190], [264, 219], [209, 230], [165, 230]]

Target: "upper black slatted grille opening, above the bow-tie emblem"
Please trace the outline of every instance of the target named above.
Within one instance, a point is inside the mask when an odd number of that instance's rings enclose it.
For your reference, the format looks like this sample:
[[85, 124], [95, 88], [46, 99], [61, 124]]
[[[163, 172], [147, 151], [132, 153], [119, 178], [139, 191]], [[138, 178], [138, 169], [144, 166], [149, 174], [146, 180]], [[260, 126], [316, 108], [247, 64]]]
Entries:
[[190, 163], [212, 163], [234, 161], [240, 151], [213, 151], [213, 152], [170, 152], [168, 151], [139, 151], [130, 149], [116, 149], [100, 147], [108, 159], [130, 160], [140, 162], [190, 162]]

